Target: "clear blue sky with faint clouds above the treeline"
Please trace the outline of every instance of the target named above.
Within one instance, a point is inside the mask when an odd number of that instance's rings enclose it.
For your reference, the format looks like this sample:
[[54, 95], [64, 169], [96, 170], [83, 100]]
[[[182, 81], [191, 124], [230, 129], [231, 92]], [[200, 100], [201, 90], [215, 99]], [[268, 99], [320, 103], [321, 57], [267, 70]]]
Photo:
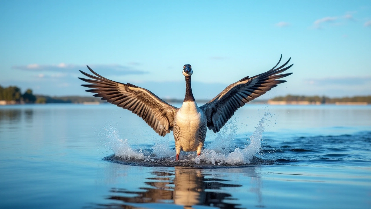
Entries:
[[286, 94], [371, 94], [371, 1], [0, 1], [0, 85], [89, 96], [78, 70], [196, 99], [294, 64]]

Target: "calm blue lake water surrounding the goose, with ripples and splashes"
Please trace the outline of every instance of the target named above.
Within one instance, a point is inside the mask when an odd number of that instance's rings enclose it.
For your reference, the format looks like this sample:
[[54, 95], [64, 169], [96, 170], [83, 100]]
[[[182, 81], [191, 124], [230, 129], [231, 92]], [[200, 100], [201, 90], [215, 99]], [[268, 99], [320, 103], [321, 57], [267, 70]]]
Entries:
[[0, 208], [371, 208], [371, 106], [247, 104], [205, 148], [174, 161], [114, 105], [0, 106]]

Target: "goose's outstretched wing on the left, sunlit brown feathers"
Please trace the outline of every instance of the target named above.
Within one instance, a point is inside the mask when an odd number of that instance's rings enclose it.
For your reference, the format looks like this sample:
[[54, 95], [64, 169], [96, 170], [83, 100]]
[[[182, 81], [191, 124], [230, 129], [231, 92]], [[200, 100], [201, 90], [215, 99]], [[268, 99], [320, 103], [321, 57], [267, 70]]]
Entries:
[[[89, 68], [88, 65], [86, 66]], [[160, 136], [165, 136], [173, 130], [176, 107], [169, 105], [147, 89], [112, 81], [98, 75], [91, 68], [89, 70], [96, 76], [80, 70], [82, 74], [94, 79], [80, 78], [92, 83], [81, 85], [91, 88], [86, 91], [96, 93], [93, 96], [101, 97], [102, 100], [137, 114]]]

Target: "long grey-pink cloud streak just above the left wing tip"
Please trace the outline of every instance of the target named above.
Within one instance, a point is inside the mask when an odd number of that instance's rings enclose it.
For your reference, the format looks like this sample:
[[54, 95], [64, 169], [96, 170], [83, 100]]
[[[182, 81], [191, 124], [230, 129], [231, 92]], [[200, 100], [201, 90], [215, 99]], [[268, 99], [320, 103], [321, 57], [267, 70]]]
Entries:
[[[144, 74], [145, 71], [136, 70], [135, 68], [112, 64], [112, 65], [89, 65], [93, 70], [101, 70], [108, 73], [120, 73], [120, 74]], [[60, 63], [58, 65], [40, 65], [40, 64], [29, 64], [29, 65], [14, 65], [13, 69], [26, 70], [26, 71], [54, 71], [62, 73], [72, 73], [78, 70], [86, 71], [87, 67], [85, 65], [74, 65]]]

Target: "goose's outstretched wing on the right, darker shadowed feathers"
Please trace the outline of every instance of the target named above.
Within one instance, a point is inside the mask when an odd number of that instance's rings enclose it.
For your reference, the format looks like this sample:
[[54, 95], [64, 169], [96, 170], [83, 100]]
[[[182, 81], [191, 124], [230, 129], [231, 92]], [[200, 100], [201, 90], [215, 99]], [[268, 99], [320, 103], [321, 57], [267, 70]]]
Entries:
[[[282, 55], [275, 67], [280, 63], [281, 59]], [[290, 59], [278, 68], [273, 67], [265, 73], [255, 75], [251, 78], [247, 76], [236, 83], [230, 84], [226, 89], [218, 94], [218, 96], [201, 106], [200, 108], [206, 114], [207, 127], [213, 129], [215, 133], [219, 132], [238, 108], [244, 106], [245, 103], [250, 102], [260, 95], [265, 94], [273, 87], [276, 87], [277, 84], [285, 83], [286, 81], [276, 79], [292, 74], [279, 74], [293, 65], [285, 67], [289, 63]]]

